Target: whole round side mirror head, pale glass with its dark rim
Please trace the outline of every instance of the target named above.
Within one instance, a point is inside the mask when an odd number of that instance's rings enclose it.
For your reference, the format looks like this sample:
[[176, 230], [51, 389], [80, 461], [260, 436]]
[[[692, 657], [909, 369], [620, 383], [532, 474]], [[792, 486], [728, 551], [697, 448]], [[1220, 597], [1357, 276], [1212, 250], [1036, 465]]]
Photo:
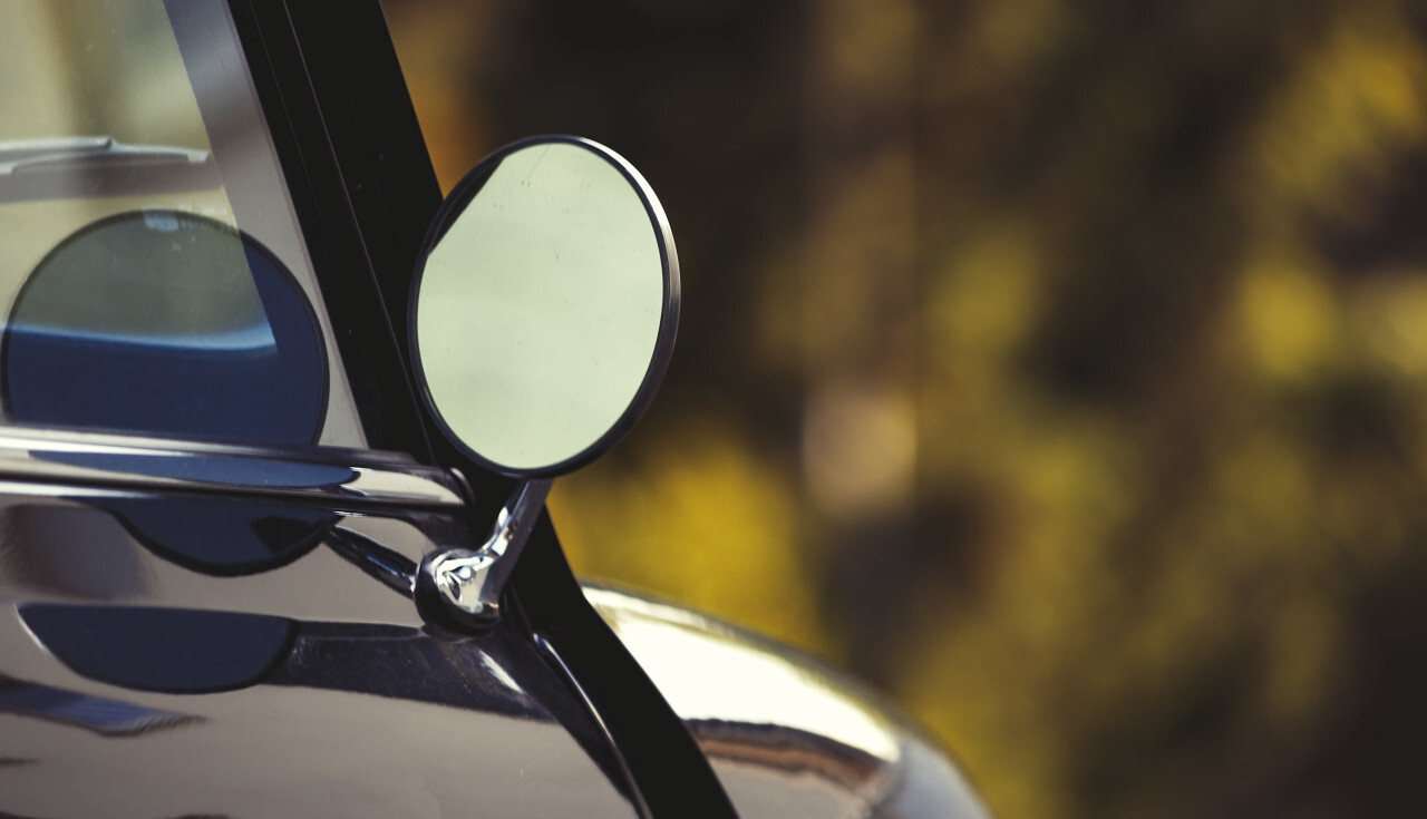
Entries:
[[448, 437], [514, 477], [568, 471], [644, 412], [678, 263], [639, 174], [586, 140], [507, 147], [462, 180], [417, 271], [418, 381]]

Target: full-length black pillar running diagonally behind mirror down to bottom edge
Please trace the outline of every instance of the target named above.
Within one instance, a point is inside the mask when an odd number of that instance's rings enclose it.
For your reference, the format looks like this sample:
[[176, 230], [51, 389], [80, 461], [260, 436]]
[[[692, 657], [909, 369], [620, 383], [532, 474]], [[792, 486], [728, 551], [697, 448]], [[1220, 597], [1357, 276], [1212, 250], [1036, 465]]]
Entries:
[[[411, 280], [442, 197], [378, 0], [228, 0], [287, 177], [358, 414], [374, 448], [457, 467], [472, 528], [517, 481], [445, 442], [421, 411], [407, 315]], [[542, 514], [508, 586], [531, 644], [561, 646], [571, 691], [598, 713], [654, 816], [735, 816], [708, 759], [664, 695], [585, 601]], [[578, 682], [575, 682], [578, 681]], [[585, 719], [562, 721], [591, 748]], [[608, 768], [609, 758], [594, 752]]]

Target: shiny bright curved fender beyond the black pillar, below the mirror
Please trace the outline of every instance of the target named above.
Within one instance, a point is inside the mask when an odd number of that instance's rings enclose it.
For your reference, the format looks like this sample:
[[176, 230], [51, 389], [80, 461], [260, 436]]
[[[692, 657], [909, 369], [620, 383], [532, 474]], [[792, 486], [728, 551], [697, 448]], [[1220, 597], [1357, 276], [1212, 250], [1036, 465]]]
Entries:
[[584, 589], [688, 725], [739, 816], [989, 819], [935, 742], [841, 673], [688, 609]]

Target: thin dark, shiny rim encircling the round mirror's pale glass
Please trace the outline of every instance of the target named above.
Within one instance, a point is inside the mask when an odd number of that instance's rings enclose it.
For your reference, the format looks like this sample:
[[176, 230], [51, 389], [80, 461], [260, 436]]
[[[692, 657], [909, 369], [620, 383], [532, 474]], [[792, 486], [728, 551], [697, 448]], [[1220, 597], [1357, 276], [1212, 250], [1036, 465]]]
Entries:
[[[437, 407], [421, 362], [421, 340], [420, 332], [417, 331], [417, 310], [421, 300], [421, 283], [424, 280], [427, 260], [431, 257], [437, 244], [451, 225], [455, 224], [455, 220], [465, 210], [467, 204], [469, 204], [469, 201], [481, 191], [501, 161], [515, 151], [552, 143], [578, 146], [604, 158], [606, 163], [614, 166], [621, 176], [624, 176], [625, 181], [628, 181], [634, 191], [639, 195], [639, 201], [644, 204], [645, 214], [649, 217], [655, 240], [659, 245], [659, 261], [664, 270], [664, 300], [661, 305], [659, 328], [654, 344], [654, 355], [651, 357], [649, 365], [645, 370], [638, 390], [619, 418], [591, 445], [569, 458], [565, 458], [564, 461], [538, 468], [512, 468], [495, 462], [467, 445], [465, 441], [461, 439], [461, 437], [457, 435], [447, 422], [441, 408]], [[668, 370], [669, 360], [674, 354], [674, 338], [678, 334], [679, 325], [679, 258], [674, 245], [674, 233], [669, 228], [669, 221], [664, 213], [664, 207], [659, 204], [659, 198], [654, 194], [654, 190], [632, 164], [605, 146], [584, 137], [544, 134], [514, 141], [481, 160], [479, 164], [477, 164], [459, 183], [457, 183], [457, 185], [441, 203], [441, 207], [431, 220], [431, 227], [422, 240], [421, 253], [417, 257], [417, 265], [411, 280], [410, 298], [407, 300], [407, 342], [411, 350], [411, 365], [417, 394], [445, 441], [477, 465], [499, 475], [527, 479], [554, 478], [557, 475], [571, 472], [612, 449], [621, 439], [624, 439], [629, 429], [638, 424], [639, 418], [649, 408], [649, 404], [654, 401], [654, 395], [659, 390], [659, 384], [664, 380], [664, 374]]]

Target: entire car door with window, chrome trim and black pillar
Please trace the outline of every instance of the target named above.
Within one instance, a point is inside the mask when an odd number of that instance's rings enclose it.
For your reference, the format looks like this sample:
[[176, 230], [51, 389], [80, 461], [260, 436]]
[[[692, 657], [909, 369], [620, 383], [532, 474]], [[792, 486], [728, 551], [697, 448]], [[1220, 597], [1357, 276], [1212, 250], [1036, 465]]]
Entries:
[[719, 815], [548, 522], [488, 632], [412, 602], [508, 482], [412, 398], [440, 195], [331, 14], [0, 10], [0, 815]]

